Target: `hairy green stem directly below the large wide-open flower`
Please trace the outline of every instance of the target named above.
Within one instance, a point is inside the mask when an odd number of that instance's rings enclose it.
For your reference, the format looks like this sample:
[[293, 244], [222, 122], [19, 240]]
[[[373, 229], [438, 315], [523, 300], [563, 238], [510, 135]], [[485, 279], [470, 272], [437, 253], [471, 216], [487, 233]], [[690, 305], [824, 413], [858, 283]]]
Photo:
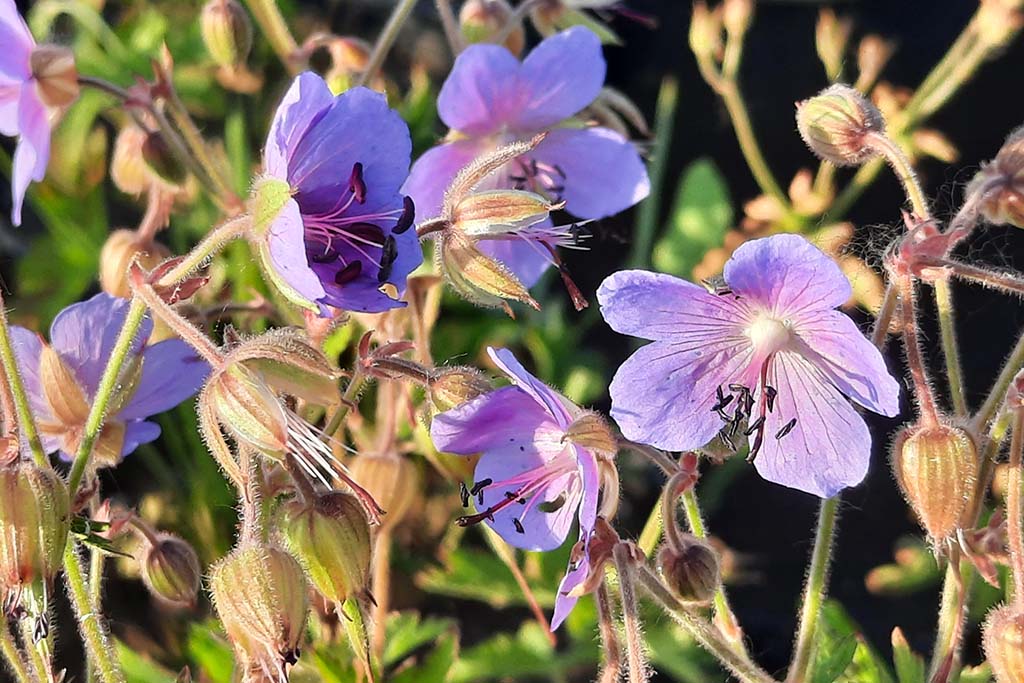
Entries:
[[800, 629], [793, 653], [793, 664], [786, 683], [805, 683], [809, 680], [811, 655], [814, 653], [814, 639], [817, 633], [818, 616], [825, 599], [828, 583], [828, 567], [831, 563], [831, 549], [836, 541], [836, 520], [839, 496], [821, 501], [818, 510], [818, 527], [814, 535], [811, 551], [811, 565], [807, 572], [807, 586], [800, 608]]

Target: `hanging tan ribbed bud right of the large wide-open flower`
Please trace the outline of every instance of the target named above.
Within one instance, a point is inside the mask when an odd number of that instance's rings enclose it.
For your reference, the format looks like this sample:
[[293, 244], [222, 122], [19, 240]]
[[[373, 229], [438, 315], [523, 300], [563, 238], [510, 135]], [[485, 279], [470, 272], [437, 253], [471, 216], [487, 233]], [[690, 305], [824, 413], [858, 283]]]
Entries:
[[978, 478], [971, 435], [950, 425], [905, 429], [893, 444], [893, 471], [932, 541], [953, 536]]

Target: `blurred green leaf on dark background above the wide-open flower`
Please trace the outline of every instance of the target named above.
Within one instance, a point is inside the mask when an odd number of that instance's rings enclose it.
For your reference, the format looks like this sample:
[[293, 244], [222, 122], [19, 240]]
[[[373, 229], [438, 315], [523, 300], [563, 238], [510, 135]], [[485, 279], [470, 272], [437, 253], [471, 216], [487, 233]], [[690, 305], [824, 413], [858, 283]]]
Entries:
[[714, 162], [698, 159], [683, 172], [669, 226], [654, 245], [654, 267], [690, 276], [709, 249], [722, 246], [732, 220], [725, 179]]

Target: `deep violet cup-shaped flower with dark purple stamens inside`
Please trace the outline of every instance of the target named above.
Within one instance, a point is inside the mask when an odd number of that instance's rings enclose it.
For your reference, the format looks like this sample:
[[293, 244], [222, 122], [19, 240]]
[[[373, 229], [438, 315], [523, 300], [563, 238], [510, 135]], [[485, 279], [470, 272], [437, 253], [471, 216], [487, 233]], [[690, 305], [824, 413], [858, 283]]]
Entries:
[[[300, 74], [278, 108], [266, 140], [269, 178], [292, 197], [271, 221], [271, 274], [298, 303], [380, 312], [423, 260], [413, 203], [398, 189], [409, 174], [409, 128], [384, 95], [353, 88], [334, 96]], [[315, 304], [315, 305], [312, 305]]]

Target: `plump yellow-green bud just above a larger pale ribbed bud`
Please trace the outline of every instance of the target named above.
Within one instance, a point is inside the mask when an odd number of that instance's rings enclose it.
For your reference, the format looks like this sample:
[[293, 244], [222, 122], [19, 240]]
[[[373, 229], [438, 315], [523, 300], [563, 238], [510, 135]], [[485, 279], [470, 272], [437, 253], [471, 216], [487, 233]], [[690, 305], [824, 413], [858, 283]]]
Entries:
[[[389, 515], [390, 516], [390, 515]], [[354, 496], [333, 490], [286, 508], [282, 532], [328, 600], [342, 603], [370, 585], [370, 521]]]

